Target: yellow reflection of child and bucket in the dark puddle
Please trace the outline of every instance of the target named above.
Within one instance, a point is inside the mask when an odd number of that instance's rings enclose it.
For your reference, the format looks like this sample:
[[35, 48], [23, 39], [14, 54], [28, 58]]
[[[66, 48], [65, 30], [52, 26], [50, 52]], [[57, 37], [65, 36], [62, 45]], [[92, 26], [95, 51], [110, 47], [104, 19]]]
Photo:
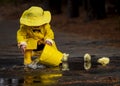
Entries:
[[57, 78], [61, 77], [62, 74], [42, 74], [37, 76], [25, 76], [24, 85], [35, 86], [35, 85], [53, 85], [57, 83]]

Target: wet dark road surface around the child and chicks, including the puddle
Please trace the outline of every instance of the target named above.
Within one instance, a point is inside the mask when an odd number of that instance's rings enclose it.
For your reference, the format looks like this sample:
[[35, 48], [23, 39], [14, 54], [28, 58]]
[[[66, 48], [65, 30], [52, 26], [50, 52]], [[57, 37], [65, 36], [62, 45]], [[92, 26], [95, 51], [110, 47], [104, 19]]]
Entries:
[[[0, 86], [120, 86], [120, 48], [108, 46], [115, 40], [88, 40], [78, 34], [62, 32], [53, 26], [55, 41], [61, 52], [69, 53], [62, 67], [24, 70], [23, 55], [17, 48], [18, 20], [0, 20]], [[83, 56], [92, 56], [92, 67], [84, 69]], [[111, 61], [102, 67], [96, 61], [107, 56]]]

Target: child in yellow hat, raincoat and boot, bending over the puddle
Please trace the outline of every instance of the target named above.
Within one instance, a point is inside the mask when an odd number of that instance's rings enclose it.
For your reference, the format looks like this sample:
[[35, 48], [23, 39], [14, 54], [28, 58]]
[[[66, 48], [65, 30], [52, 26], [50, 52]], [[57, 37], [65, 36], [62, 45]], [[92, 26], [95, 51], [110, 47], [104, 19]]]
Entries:
[[20, 18], [20, 29], [17, 31], [18, 47], [24, 54], [24, 65], [32, 63], [33, 51], [43, 50], [45, 44], [56, 48], [54, 33], [50, 27], [51, 14], [41, 7], [32, 6], [25, 10]]

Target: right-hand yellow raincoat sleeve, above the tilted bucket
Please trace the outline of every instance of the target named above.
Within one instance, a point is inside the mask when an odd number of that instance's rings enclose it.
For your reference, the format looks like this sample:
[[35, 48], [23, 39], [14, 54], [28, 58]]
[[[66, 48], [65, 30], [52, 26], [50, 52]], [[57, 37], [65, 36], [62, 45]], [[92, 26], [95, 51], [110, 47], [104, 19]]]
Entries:
[[46, 24], [45, 25], [45, 30], [46, 30], [46, 33], [45, 33], [45, 41], [48, 40], [50, 41], [51, 43], [53, 43], [53, 40], [54, 40], [54, 32], [53, 30], [51, 29], [50, 27], [50, 24]]

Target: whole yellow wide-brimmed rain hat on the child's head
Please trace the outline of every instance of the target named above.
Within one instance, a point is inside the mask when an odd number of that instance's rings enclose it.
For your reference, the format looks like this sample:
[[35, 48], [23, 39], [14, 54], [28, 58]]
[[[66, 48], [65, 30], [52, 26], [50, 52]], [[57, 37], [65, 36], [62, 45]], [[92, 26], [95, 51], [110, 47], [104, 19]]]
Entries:
[[49, 23], [51, 14], [49, 11], [43, 11], [41, 7], [32, 6], [25, 10], [20, 18], [20, 24], [27, 26], [40, 26]]

